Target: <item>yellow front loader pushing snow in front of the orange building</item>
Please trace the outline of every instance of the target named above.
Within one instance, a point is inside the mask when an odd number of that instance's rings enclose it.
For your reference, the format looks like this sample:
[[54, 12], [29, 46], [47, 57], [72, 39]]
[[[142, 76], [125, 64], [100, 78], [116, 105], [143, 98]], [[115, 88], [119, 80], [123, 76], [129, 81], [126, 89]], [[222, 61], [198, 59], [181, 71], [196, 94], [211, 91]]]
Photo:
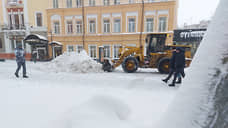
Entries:
[[105, 60], [103, 69], [105, 71], [112, 71], [122, 65], [123, 70], [127, 73], [133, 73], [138, 68], [157, 68], [160, 73], [168, 73], [169, 61], [174, 47], [185, 49], [186, 67], [188, 67], [191, 62], [191, 47], [186, 45], [166, 46], [167, 36], [168, 34], [166, 33], [148, 34], [145, 42], [146, 55], [144, 55], [144, 48], [142, 46], [120, 47], [119, 59], [112, 60], [111, 66], [108, 60]]

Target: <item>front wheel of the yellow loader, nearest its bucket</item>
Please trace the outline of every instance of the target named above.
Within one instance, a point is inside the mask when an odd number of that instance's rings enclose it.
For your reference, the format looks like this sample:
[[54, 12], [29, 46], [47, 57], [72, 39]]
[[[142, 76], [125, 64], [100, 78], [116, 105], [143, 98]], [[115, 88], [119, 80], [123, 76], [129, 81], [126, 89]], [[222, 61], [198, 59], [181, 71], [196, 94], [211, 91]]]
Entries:
[[134, 57], [127, 57], [122, 63], [122, 68], [124, 72], [133, 73], [138, 69], [139, 62]]

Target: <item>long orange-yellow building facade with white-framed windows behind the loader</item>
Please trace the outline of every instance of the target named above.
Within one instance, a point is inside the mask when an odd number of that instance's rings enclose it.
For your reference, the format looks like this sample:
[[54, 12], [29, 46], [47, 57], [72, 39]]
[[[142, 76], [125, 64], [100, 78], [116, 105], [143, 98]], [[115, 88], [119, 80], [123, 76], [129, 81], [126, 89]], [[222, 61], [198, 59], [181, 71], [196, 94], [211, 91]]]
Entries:
[[63, 52], [79, 52], [84, 47], [94, 59], [101, 46], [105, 57], [114, 59], [119, 46], [139, 47], [141, 31], [143, 45], [148, 33], [169, 33], [167, 43], [172, 43], [177, 2], [144, 0], [143, 5], [141, 0], [49, 0], [47, 26], [52, 33], [48, 39], [60, 42]]

